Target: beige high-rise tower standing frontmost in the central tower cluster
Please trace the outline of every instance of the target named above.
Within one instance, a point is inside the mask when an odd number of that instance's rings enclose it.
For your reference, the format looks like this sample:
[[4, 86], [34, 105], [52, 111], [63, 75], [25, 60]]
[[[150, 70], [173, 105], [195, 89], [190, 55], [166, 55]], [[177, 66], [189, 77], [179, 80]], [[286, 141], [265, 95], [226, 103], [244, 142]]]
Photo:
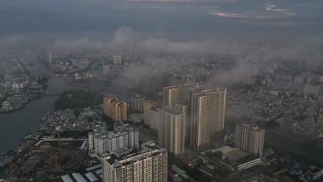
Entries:
[[185, 148], [185, 114], [170, 108], [157, 110], [158, 144], [170, 153], [182, 154]]

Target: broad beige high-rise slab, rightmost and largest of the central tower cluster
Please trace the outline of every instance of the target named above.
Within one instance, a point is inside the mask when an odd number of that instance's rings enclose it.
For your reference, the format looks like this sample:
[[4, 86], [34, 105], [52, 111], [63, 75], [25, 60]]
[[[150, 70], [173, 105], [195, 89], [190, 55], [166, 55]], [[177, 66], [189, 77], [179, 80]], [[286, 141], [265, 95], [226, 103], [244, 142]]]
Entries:
[[200, 150], [224, 130], [226, 88], [203, 90], [193, 94], [191, 102], [190, 145]]

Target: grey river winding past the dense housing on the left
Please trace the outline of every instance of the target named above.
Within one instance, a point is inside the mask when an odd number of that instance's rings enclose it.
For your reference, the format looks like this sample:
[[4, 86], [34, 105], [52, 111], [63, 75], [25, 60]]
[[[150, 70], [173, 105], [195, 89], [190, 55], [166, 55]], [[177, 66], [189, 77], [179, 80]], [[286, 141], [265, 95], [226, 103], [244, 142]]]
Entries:
[[[69, 88], [66, 78], [55, 77], [53, 72], [37, 61], [35, 54], [29, 59], [41, 70], [48, 80], [48, 91], [59, 91]], [[56, 92], [57, 93], [57, 92]], [[0, 156], [9, 150], [15, 150], [23, 136], [37, 130], [41, 119], [52, 110], [58, 96], [41, 97], [32, 101], [22, 110], [0, 115]]]

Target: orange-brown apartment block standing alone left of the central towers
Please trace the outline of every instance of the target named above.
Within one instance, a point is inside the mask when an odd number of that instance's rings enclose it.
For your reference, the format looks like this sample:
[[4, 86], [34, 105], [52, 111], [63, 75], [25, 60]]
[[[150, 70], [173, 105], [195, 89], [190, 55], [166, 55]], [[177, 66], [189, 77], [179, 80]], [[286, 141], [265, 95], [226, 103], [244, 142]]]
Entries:
[[115, 121], [127, 121], [127, 103], [117, 97], [104, 97], [104, 114]]

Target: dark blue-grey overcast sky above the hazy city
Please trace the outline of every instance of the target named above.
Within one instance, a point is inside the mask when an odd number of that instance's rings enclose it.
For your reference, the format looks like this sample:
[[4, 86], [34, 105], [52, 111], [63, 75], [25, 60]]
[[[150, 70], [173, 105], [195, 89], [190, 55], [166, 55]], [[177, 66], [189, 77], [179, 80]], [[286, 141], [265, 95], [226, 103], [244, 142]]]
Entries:
[[312, 36], [323, 32], [322, 0], [0, 0], [2, 34]]

